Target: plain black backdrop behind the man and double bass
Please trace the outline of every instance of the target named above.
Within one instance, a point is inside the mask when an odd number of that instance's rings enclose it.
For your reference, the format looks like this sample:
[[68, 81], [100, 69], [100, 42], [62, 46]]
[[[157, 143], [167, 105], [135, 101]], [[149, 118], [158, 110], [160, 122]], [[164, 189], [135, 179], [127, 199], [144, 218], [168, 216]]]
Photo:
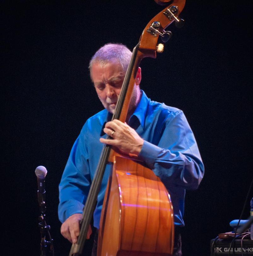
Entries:
[[[85, 120], [103, 109], [88, 63], [100, 46], [131, 50], [163, 7], [146, 1], [1, 1], [2, 168], [0, 255], [39, 255], [35, 168], [44, 165], [46, 219], [55, 255], [58, 184]], [[185, 26], [156, 59], [141, 63], [141, 88], [182, 109], [205, 165], [187, 191], [183, 254], [209, 255], [210, 240], [232, 231], [252, 180], [252, 1], [186, 1]], [[250, 198], [253, 191], [250, 192]], [[243, 218], [249, 216], [250, 200]]]

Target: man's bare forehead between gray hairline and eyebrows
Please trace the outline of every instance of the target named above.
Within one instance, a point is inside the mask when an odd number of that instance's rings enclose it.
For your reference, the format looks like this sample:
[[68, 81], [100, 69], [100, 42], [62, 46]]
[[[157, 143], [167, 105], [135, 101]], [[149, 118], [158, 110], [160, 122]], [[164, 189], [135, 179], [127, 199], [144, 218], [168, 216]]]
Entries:
[[116, 77], [125, 76], [121, 64], [117, 60], [109, 61], [105, 64], [94, 63], [91, 69], [92, 79], [109, 80]]

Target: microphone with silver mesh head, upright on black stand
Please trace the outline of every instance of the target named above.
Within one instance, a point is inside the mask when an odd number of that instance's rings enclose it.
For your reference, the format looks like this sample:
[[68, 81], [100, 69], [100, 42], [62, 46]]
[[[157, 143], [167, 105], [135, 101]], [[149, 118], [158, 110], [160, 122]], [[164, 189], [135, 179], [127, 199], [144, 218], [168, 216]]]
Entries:
[[43, 213], [46, 211], [45, 206], [45, 177], [47, 175], [47, 169], [44, 166], [38, 166], [35, 170], [35, 174], [38, 179], [38, 201], [40, 211]]

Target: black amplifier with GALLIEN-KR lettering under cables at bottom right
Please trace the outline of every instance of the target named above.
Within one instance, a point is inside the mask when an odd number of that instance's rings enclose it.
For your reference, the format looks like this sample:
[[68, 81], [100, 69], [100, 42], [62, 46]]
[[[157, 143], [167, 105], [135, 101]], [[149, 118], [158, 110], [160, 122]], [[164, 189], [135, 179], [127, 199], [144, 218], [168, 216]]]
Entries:
[[[245, 238], [249, 238], [249, 236]], [[215, 239], [211, 240], [211, 255], [228, 256], [232, 239], [217, 239], [215, 242], [214, 241]], [[213, 242], [214, 242], [214, 245], [213, 245]], [[241, 246], [241, 242], [242, 242], [242, 246]], [[248, 239], [235, 240], [234, 246], [233, 245], [231, 246], [230, 256], [233, 256], [233, 251], [235, 255], [253, 256], [253, 240], [248, 240]]]

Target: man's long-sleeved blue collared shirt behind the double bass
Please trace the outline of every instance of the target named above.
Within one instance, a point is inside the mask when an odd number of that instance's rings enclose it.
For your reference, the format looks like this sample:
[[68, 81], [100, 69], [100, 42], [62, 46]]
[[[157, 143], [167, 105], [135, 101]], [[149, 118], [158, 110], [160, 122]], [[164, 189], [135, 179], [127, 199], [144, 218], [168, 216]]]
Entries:
[[[107, 116], [108, 111], [104, 109], [89, 118], [71, 149], [59, 185], [58, 215], [61, 222], [74, 213], [82, 213], [103, 148], [99, 138], [104, 122], [108, 121]], [[196, 189], [204, 174], [197, 143], [184, 113], [151, 101], [142, 91], [141, 100], [128, 124], [144, 139], [138, 157], [168, 189], [174, 223], [183, 226], [185, 189]], [[99, 228], [109, 173], [110, 164], [107, 164], [93, 215], [96, 228]]]

